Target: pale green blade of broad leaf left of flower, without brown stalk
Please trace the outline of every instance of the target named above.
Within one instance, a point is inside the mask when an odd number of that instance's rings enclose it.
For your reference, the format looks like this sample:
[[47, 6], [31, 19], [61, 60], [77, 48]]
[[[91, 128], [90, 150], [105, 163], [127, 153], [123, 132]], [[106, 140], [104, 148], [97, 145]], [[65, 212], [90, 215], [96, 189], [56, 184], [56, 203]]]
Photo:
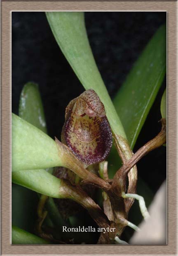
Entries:
[[64, 166], [52, 138], [12, 114], [12, 171]]

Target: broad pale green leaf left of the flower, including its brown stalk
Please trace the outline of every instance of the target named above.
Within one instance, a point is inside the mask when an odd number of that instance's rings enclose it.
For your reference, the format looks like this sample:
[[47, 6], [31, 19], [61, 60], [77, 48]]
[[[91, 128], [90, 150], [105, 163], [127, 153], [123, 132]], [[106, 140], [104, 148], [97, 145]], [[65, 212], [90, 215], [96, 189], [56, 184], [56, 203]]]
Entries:
[[66, 145], [12, 114], [12, 171], [59, 166], [86, 179], [84, 164]]

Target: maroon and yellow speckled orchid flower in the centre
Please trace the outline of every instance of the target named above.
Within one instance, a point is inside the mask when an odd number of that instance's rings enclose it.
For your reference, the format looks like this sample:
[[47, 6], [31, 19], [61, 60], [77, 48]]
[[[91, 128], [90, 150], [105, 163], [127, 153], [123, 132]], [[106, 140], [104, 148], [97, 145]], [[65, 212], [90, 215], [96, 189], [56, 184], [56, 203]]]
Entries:
[[105, 108], [93, 89], [83, 92], [66, 107], [61, 140], [84, 164], [103, 161], [112, 146]]

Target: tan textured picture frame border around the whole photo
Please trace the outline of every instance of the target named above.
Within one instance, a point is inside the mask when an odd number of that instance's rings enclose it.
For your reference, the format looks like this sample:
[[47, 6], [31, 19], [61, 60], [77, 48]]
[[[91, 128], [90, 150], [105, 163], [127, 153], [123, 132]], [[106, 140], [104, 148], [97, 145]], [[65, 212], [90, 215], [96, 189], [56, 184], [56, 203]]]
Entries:
[[[168, 84], [168, 150], [167, 150], [167, 245], [11, 245], [11, 12], [45, 10], [166, 11], [167, 12], [167, 84]], [[177, 2], [37, 2], [2, 1], [2, 255], [177, 255]]]

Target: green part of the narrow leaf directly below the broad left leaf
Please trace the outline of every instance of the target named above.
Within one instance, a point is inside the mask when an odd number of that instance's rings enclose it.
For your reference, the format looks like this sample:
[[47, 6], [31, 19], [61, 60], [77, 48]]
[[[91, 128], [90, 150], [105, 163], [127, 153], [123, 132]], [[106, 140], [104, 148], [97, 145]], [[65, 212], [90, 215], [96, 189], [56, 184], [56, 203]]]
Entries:
[[46, 196], [63, 198], [61, 180], [44, 169], [13, 171], [12, 182]]

